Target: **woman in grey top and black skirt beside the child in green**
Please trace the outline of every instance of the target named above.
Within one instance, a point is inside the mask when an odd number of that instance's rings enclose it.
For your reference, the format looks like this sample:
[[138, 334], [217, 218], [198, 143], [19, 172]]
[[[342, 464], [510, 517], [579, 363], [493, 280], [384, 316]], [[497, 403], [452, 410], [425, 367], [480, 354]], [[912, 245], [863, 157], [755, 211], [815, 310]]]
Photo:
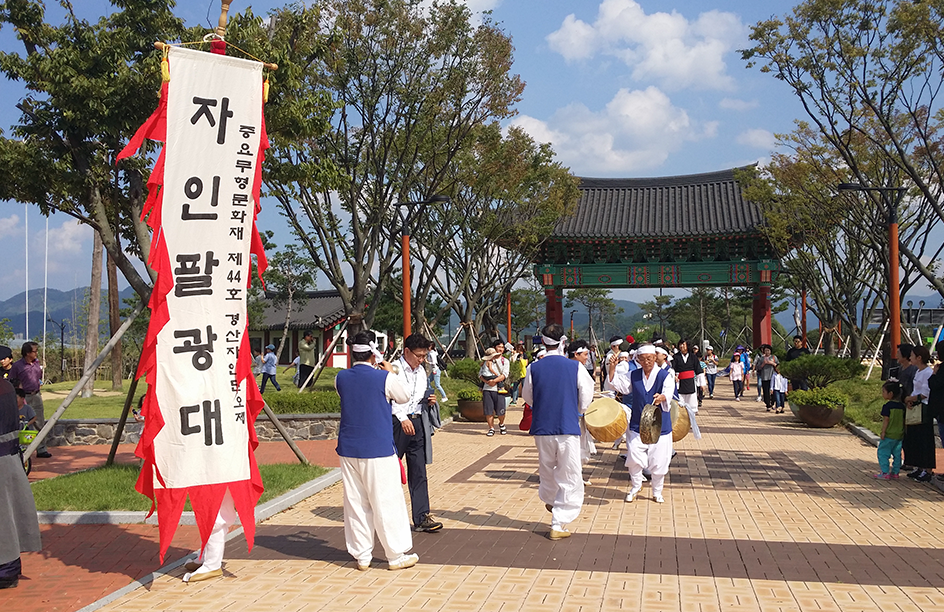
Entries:
[[911, 363], [918, 371], [915, 373], [911, 395], [905, 398], [905, 463], [915, 467], [915, 470], [908, 474], [908, 478], [927, 482], [934, 477], [936, 467], [934, 416], [928, 408], [928, 380], [934, 369], [930, 366], [931, 353], [927, 347], [912, 348]]

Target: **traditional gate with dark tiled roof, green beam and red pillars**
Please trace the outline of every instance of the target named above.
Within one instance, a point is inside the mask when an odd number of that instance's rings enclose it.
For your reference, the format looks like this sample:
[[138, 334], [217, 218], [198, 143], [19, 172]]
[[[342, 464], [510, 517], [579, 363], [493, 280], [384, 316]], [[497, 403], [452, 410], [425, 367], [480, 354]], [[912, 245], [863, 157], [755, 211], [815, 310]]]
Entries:
[[535, 261], [548, 322], [565, 288], [753, 286], [754, 342], [770, 342], [770, 283], [779, 262], [735, 170], [641, 179], [584, 178], [573, 215]]

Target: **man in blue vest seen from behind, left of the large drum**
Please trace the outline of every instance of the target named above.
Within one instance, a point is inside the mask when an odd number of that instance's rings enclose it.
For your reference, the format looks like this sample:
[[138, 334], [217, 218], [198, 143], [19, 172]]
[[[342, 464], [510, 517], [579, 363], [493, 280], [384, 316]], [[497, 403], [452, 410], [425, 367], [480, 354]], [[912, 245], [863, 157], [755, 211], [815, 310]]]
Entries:
[[551, 512], [552, 540], [570, 537], [565, 527], [583, 506], [580, 415], [593, 401], [593, 377], [563, 354], [567, 337], [557, 324], [541, 331], [547, 354], [528, 366], [521, 396], [531, 406], [531, 435], [538, 449], [538, 497]]

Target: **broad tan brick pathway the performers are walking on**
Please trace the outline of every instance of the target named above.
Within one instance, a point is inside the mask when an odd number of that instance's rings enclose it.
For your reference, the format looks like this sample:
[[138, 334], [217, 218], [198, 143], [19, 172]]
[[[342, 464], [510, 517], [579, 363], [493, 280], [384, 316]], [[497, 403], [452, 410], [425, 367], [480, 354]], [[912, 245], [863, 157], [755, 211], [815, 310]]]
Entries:
[[232, 542], [222, 580], [186, 585], [177, 571], [104, 609], [944, 610], [941, 494], [873, 480], [873, 447], [758, 406], [706, 402], [704, 438], [677, 445], [665, 504], [648, 488], [625, 503], [626, 471], [601, 447], [560, 542], [547, 539], [531, 439], [453, 424], [429, 473], [445, 529], [415, 534], [416, 568], [356, 570], [335, 485], [260, 525], [251, 553]]

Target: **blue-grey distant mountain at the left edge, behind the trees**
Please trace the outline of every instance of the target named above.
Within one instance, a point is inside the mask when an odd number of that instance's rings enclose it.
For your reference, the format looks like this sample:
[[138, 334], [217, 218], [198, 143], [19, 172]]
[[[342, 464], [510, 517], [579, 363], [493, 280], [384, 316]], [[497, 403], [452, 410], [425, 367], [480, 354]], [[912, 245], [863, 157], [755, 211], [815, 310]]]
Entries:
[[[68, 320], [66, 324], [66, 334], [69, 334], [72, 321], [84, 316], [82, 314], [83, 302], [88, 287], [79, 287], [71, 291], [60, 291], [59, 289], [48, 289], [46, 292], [46, 316], [61, 323]], [[131, 297], [134, 290], [131, 287], [125, 287], [118, 293], [124, 307], [124, 299]], [[27, 337], [35, 338], [43, 333], [43, 289], [30, 289], [29, 292], [29, 319], [30, 329]], [[24, 339], [23, 332], [26, 327], [26, 292], [21, 291], [8, 300], [0, 301], [0, 319], [9, 319], [8, 325], [13, 328], [13, 333], [20, 341]], [[108, 320], [108, 295], [102, 291], [102, 311], [101, 319]], [[58, 326], [52, 323], [46, 324], [46, 333], [58, 331]]]

